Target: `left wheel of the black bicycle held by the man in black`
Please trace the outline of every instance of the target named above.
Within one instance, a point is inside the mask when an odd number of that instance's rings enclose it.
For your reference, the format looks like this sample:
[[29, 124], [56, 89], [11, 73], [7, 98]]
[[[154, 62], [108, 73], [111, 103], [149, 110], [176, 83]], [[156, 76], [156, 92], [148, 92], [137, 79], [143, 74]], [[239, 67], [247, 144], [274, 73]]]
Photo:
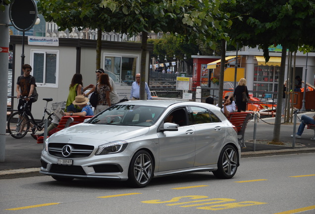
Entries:
[[30, 120], [23, 112], [14, 112], [7, 121], [7, 130], [14, 138], [22, 138], [30, 128]]

